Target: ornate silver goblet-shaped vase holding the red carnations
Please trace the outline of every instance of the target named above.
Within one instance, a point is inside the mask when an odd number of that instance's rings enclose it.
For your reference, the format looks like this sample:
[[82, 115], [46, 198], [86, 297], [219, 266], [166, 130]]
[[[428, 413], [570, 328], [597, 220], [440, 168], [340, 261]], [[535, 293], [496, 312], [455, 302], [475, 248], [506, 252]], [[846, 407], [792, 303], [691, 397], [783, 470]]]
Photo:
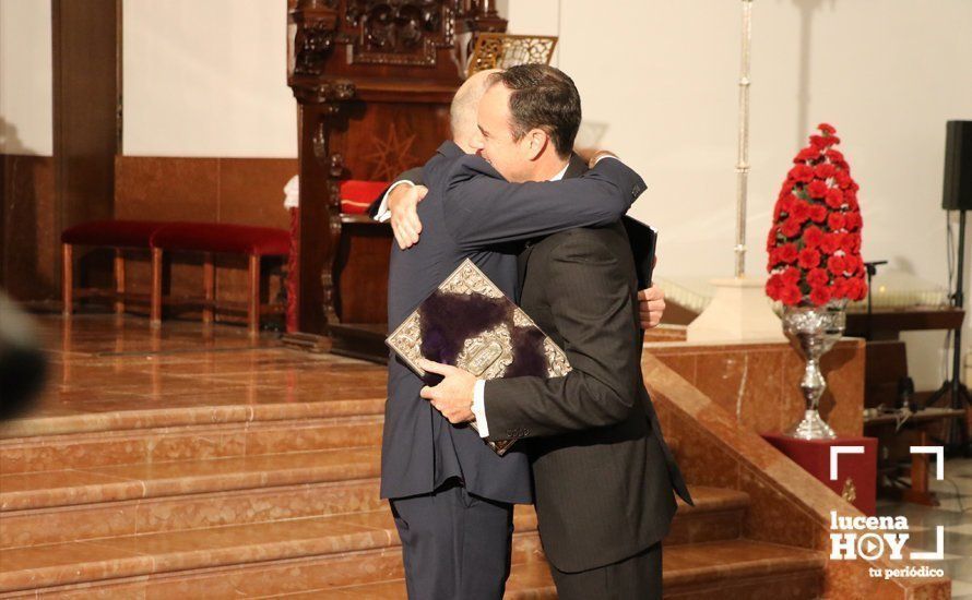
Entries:
[[803, 419], [786, 432], [801, 440], [833, 440], [837, 434], [820, 417], [820, 396], [827, 381], [820, 372], [820, 357], [827, 353], [844, 333], [846, 300], [831, 301], [822, 307], [786, 307], [783, 331], [799, 345], [806, 360], [799, 389], [806, 401]]

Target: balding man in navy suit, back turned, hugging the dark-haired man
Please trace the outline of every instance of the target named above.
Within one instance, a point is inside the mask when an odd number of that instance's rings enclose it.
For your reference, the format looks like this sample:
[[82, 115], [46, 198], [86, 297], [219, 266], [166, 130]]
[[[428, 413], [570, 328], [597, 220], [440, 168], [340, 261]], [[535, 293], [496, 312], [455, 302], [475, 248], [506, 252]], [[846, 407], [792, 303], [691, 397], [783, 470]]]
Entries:
[[[457, 171], [466, 172], [486, 76], [471, 77], [457, 94], [454, 142], [442, 144], [423, 169], [428, 194], [417, 208], [426, 226], [422, 242], [407, 251], [392, 249], [391, 331], [467, 257], [514, 298], [518, 242], [613, 223], [644, 189], [617, 159], [559, 183], [457, 179]], [[509, 573], [512, 504], [532, 502], [526, 456], [500, 457], [470, 428], [453, 427], [419, 397], [423, 385], [390, 356], [381, 496], [390, 500], [402, 540], [408, 596], [498, 600]]]

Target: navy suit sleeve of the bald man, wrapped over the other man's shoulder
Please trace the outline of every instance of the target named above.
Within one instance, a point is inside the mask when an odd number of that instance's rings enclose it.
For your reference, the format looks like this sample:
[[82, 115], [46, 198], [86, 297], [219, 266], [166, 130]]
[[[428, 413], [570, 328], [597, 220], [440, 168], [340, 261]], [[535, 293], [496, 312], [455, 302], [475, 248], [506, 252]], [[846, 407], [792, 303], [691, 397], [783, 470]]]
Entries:
[[510, 183], [471, 155], [457, 160], [447, 176], [444, 220], [460, 247], [482, 248], [608, 225], [643, 191], [638, 173], [613, 158], [577, 178]]

